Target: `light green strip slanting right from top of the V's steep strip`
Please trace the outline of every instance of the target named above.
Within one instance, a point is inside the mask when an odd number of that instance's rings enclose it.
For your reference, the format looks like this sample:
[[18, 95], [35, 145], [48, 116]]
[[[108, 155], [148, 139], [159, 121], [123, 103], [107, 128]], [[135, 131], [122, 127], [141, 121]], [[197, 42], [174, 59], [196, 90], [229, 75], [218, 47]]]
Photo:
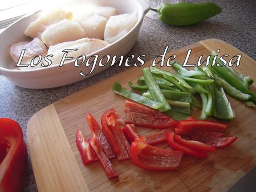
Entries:
[[[170, 81], [178, 88], [179, 88], [178, 85], [181, 85], [185, 88], [188, 88], [189, 90], [193, 89], [182, 77], [179, 77], [178, 74], [174, 74], [169, 71], [160, 70], [159, 68], [156, 68], [156, 67], [150, 67], [150, 71], [154, 74], [162, 75], [166, 80]], [[184, 90], [181, 90], [181, 91], [184, 91]], [[184, 91], [184, 92], [187, 92], [187, 91]]]

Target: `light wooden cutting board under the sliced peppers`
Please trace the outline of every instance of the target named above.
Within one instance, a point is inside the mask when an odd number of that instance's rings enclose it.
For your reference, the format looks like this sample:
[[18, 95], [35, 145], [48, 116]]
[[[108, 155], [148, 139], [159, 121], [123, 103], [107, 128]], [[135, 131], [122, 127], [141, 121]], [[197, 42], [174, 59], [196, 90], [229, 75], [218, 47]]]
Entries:
[[[204, 40], [180, 50], [176, 54], [183, 62], [192, 48], [189, 63], [197, 62], [200, 55], [208, 56], [220, 48], [221, 55], [242, 54], [241, 65], [236, 71], [256, 80], [256, 62], [231, 45], [220, 40]], [[147, 66], [151, 61], [147, 62]], [[145, 65], [146, 66], [146, 65]], [[172, 70], [169, 67], [169, 70]], [[225, 191], [256, 164], [256, 110], [244, 103], [230, 99], [235, 115], [228, 122], [227, 135], [239, 139], [228, 149], [217, 150], [201, 160], [184, 156], [180, 169], [175, 172], [150, 172], [137, 168], [131, 160], [111, 160], [119, 178], [107, 179], [99, 162], [84, 166], [75, 144], [75, 131], [81, 129], [91, 136], [85, 115], [90, 112], [98, 122], [104, 111], [114, 107], [124, 116], [124, 101], [111, 91], [119, 80], [127, 87], [129, 80], [142, 75], [141, 68], [132, 67], [106, 80], [55, 102], [38, 111], [27, 125], [27, 138], [38, 190], [46, 191]], [[255, 91], [255, 83], [252, 86]], [[193, 116], [198, 116], [193, 112]], [[141, 134], [155, 130], [139, 129]], [[163, 144], [167, 146], [166, 144]]]

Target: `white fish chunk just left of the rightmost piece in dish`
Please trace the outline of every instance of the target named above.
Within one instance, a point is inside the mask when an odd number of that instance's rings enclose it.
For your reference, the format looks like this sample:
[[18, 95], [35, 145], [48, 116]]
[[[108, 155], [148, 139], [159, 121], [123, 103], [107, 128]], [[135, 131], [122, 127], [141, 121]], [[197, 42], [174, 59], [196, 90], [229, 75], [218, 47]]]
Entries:
[[107, 19], [102, 16], [93, 15], [85, 20], [78, 21], [86, 33], [88, 38], [104, 39], [104, 31], [107, 23]]

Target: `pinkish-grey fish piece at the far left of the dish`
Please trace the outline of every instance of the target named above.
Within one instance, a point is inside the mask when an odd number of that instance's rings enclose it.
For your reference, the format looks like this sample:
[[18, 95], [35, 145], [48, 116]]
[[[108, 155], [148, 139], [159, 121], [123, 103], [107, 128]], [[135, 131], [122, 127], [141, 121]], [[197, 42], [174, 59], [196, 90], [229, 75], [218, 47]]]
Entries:
[[[44, 57], [47, 53], [45, 44], [43, 44], [39, 38], [34, 38], [32, 41], [14, 43], [9, 48], [9, 54], [14, 62], [18, 62], [19, 56], [21, 56], [21, 52], [24, 49], [26, 51], [22, 58], [21, 65], [28, 65], [33, 57], [36, 57], [37, 55], [42, 55], [42, 57]], [[31, 67], [18, 67], [19, 70], [28, 70], [29, 68]]]

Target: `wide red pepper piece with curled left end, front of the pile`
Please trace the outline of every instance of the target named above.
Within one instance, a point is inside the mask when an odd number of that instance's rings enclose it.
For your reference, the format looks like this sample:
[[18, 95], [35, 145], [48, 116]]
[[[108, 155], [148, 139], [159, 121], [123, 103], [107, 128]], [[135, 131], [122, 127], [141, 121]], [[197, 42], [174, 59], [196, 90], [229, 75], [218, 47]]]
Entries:
[[178, 170], [183, 153], [147, 145], [139, 139], [131, 143], [131, 160], [139, 168], [150, 171]]

